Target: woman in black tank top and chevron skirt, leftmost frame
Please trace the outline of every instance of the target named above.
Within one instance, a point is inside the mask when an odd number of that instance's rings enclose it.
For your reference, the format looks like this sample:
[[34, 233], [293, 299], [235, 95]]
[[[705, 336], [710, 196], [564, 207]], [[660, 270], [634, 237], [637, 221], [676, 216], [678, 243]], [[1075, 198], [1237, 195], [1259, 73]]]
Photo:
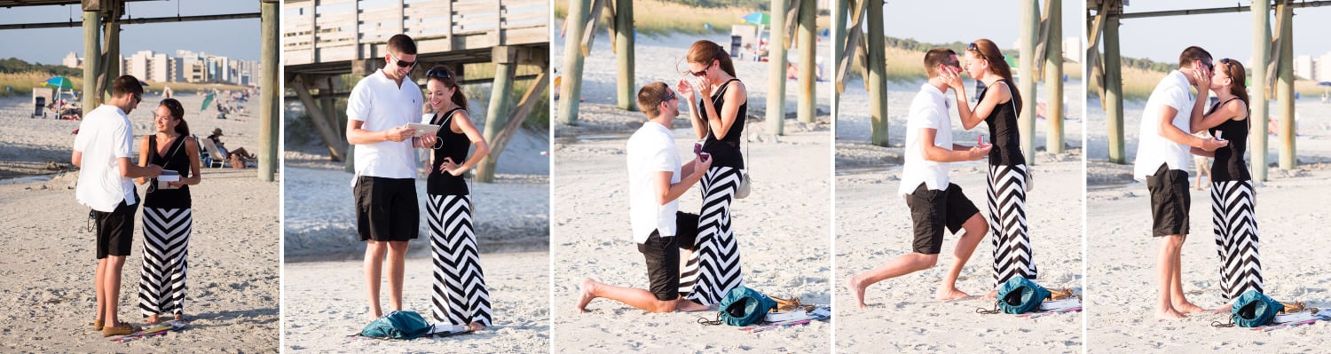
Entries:
[[[144, 262], [138, 279], [138, 309], [148, 323], [158, 314], [185, 319], [185, 270], [194, 218], [189, 186], [200, 182], [198, 141], [189, 136], [185, 108], [173, 98], [153, 110], [156, 134], [145, 136], [138, 146], [138, 165], [176, 172], [180, 181], [137, 178], [148, 184], [144, 196]], [[164, 174], [165, 176], [165, 174]]]

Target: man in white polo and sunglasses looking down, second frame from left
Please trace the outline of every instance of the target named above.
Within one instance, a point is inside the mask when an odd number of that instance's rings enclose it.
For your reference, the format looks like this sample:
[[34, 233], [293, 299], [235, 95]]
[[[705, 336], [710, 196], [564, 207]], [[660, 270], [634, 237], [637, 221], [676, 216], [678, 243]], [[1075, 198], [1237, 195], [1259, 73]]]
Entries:
[[[383, 69], [361, 79], [347, 97], [347, 142], [355, 144], [355, 221], [365, 246], [365, 283], [369, 287], [370, 318], [379, 309], [379, 278], [385, 254], [389, 264], [389, 293], [393, 310], [402, 310], [402, 278], [407, 241], [417, 238], [421, 209], [415, 193], [415, 129], [407, 124], [421, 117], [425, 98], [407, 77], [415, 68], [417, 48], [411, 37], [389, 39]], [[421, 140], [433, 140], [426, 134]], [[431, 141], [433, 142], [433, 141]]]

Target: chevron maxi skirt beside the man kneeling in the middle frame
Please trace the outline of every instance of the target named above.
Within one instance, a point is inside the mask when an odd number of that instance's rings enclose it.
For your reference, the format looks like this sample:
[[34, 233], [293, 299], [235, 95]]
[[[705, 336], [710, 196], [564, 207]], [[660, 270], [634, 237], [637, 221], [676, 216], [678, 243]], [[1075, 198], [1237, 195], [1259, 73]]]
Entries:
[[740, 178], [740, 169], [724, 166], [713, 166], [703, 174], [703, 210], [697, 218], [697, 238], [679, 275], [679, 293], [683, 298], [712, 305], [720, 302], [731, 289], [744, 285], [739, 241], [731, 229], [731, 202]]

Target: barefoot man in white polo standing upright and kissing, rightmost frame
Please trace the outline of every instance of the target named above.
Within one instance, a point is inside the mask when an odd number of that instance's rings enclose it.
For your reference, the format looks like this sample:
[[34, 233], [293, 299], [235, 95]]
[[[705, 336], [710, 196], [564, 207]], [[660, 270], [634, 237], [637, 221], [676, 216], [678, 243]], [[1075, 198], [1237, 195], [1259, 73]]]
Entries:
[[[1229, 141], [1189, 134], [1191, 117], [1202, 116], [1211, 85], [1211, 53], [1199, 47], [1189, 47], [1178, 59], [1178, 69], [1165, 76], [1142, 109], [1142, 126], [1137, 142], [1137, 162], [1133, 176], [1146, 181], [1151, 193], [1151, 234], [1161, 237], [1155, 258], [1158, 306], [1155, 318], [1183, 318], [1186, 313], [1203, 311], [1183, 297], [1179, 257], [1187, 240], [1189, 194], [1187, 165], [1190, 148], [1207, 152], [1229, 145]], [[1197, 87], [1199, 97], [1189, 93]]]

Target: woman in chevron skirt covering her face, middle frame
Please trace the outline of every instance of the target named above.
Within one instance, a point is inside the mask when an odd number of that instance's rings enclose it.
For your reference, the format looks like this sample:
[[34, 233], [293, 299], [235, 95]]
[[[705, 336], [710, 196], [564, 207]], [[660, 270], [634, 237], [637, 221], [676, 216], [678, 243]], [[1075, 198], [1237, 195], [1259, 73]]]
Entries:
[[[703, 208], [697, 237], [692, 245], [680, 245], [680, 256], [687, 261], [680, 273], [679, 291], [687, 299], [712, 305], [744, 283], [740, 252], [731, 229], [731, 202], [744, 173], [740, 144], [748, 114], [748, 92], [744, 83], [735, 79], [731, 56], [716, 43], [693, 43], [687, 61], [688, 77], [679, 81], [676, 90], [689, 101], [689, 121], [697, 138], [703, 140], [703, 153], [711, 156], [712, 166], [701, 180]], [[695, 98], [699, 98], [697, 106], [692, 105]]]

